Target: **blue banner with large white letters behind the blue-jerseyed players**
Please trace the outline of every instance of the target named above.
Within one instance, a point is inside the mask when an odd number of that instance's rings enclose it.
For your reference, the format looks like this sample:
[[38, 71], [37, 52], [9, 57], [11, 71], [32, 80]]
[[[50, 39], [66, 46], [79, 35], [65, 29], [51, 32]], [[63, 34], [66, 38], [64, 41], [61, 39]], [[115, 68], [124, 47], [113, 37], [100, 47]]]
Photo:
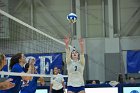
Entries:
[[[26, 61], [35, 58], [35, 68], [40, 74], [50, 74], [51, 69], [58, 67], [62, 69], [62, 53], [44, 53], [44, 54], [25, 54]], [[7, 65], [9, 66], [11, 55], [6, 55]]]

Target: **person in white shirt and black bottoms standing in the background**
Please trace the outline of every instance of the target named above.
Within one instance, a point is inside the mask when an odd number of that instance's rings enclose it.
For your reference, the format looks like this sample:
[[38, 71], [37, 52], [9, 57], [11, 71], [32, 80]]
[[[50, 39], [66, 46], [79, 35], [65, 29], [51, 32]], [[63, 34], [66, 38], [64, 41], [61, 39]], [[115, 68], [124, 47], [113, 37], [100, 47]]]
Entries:
[[50, 93], [64, 93], [64, 92], [65, 92], [64, 78], [61, 74], [59, 74], [58, 67], [54, 67], [53, 76], [51, 77], [50, 83]]

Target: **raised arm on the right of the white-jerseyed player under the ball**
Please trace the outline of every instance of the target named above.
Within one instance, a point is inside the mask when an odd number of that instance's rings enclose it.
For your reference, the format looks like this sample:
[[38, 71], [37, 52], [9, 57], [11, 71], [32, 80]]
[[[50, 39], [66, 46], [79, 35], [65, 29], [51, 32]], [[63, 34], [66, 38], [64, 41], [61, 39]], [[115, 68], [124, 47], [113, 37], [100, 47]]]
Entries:
[[84, 40], [82, 38], [79, 39], [79, 46], [80, 46], [80, 61], [82, 65], [85, 65]]

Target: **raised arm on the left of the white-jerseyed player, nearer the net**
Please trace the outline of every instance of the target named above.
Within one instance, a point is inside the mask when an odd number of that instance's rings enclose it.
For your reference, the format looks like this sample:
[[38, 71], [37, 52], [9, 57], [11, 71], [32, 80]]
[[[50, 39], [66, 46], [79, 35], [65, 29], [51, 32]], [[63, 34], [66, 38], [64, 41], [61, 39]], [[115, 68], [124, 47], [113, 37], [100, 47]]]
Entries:
[[70, 52], [70, 49], [69, 49], [70, 38], [65, 37], [64, 42], [65, 42], [65, 45], [66, 45], [66, 63], [68, 63], [68, 62], [70, 62], [70, 59], [71, 59], [71, 52]]

